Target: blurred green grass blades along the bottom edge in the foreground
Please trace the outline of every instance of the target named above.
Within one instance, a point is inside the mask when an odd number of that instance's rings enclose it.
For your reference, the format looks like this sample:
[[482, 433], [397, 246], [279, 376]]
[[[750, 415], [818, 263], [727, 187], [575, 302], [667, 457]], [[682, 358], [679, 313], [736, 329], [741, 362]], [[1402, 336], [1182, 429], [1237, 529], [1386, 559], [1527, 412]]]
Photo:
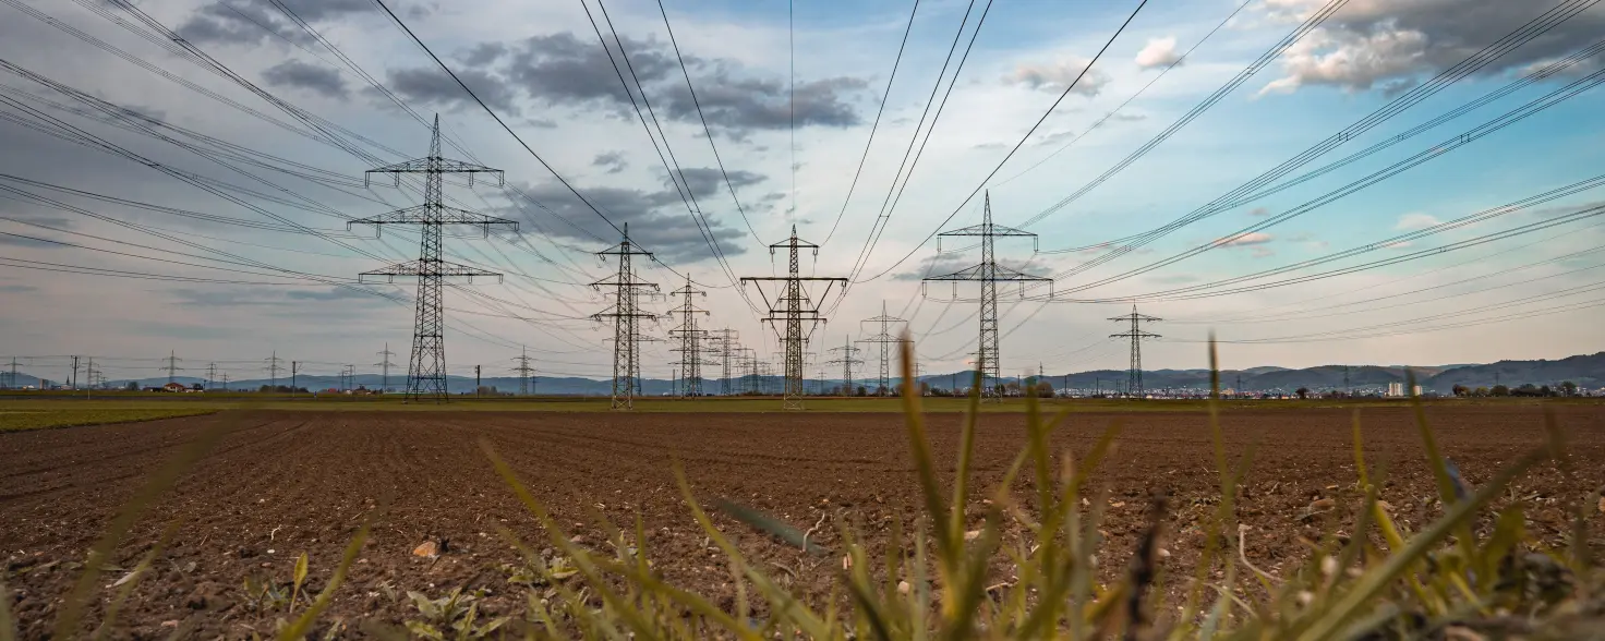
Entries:
[[[1213, 361], [1213, 355], [1212, 355]], [[1213, 363], [1212, 363], [1213, 365]], [[907, 371], [905, 353], [905, 371]], [[1591, 482], [1570, 479], [1562, 456], [1562, 434], [1550, 424], [1549, 440], [1534, 443], [1510, 467], [1480, 487], [1469, 488], [1438, 450], [1416, 405], [1417, 427], [1425, 445], [1425, 464], [1436, 480], [1436, 519], [1414, 527], [1395, 522], [1379, 488], [1382, 472], [1363, 456], [1361, 431], [1355, 423], [1355, 477], [1345, 500], [1327, 500], [1326, 511], [1347, 519], [1308, 541], [1306, 561], [1276, 575], [1242, 556], [1237, 530], [1237, 487], [1252, 467], [1252, 450], [1228, 459], [1218, 414], [1209, 403], [1209, 429], [1215, 442], [1213, 467], [1220, 471], [1220, 495], [1202, 519], [1201, 559], [1193, 567], [1167, 572], [1162, 557], [1168, 541], [1170, 506], [1156, 495], [1148, 524], [1128, 556], [1109, 551], [1103, 511], [1109, 503], [1095, 474], [1115, 445], [1119, 424], [1082, 453], [1050, 451], [1048, 435], [1069, 413], [1046, 414], [1027, 402], [1029, 440], [1003, 480], [993, 488], [971, 488], [971, 453], [977, 437], [979, 400], [969, 400], [953, 466], [936, 464], [924, 431], [924, 400], [900, 398], [912, 461], [918, 477], [923, 514], [915, 522], [892, 522], [891, 543], [872, 549], [862, 545], [851, 512], [838, 512], [833, 543], [820, 545], [807, 532], [751, 508], [713, 501], [711, 506], [748, 527], [788, 541], [827, 567], [839, 567], [833, 598], [809, 602], [777, 580], [769, 564], [748, 559], [721, 530], [676, 467], [685, 509], [701, 525], [708, 543], [722, 553], [722, 565], [735, 586], [733, 601], [719, 601], [671, 585], [655, 570], [655, 549], [647, 548], [644, 524], [612, 524], [600, 546], [570, 538], [565, 524], [551, 516], [517, 479], [515, 472], [482, 442], [491, 466], [507, 488], [542, 525], [544, 541], [526, 541], [506, 525], [496, 525], [504, 541], [526, 559], [512, 590], [526, 591], [526, 609], [486, 620], [475, 601], [480, 594], [440, 586], [435, 594], [408, 593], [417, 614], [404, 628], [374, 622], [324, 620], [335, 598], [358, 591], [343, 585], [356, 562], [368, 529], [351, 538], [339, 565], [313, 593], [305, 585], [305, 556], [287, 582], [247, 591], [282, 612], [276, 636], [337, 638], [584, 638], [584, 639], [1483, 639], [1483, 638], [1579, 638], [1605, 630], [1605, 574], [1589, 556], [1587, 519], [1599, 504]], [[111, 522], [90, 549], [85, 567], [103, 567], [130, 527], [215, 443], [217, 432], [186, 445], [175, 461], [159, 469]], [[1570, 541], [1546, 546], [1528, 532], [1528, 504], [1507, 488], [1538, 464], [1552, 463], [1568, 476], [1573, 492], [1560, 496], [1571, 514]], [[952, 479], [944, 482], [942, 479]], [[979, 490], [979, 492], [977, 492]], [[979, 506], [973, 495], [985, 496]], [[1090, 498], [1090, 500], [1088, 500]], [[1493, 509], [1496, 500], [1504, 501]], [[976, 524], [979, 522], [979, 527]], [[1337, 527], [1337, 525], [1334, 525]], [[172, 532], [172, 529], [169, 530]], [[164, 540], [167, 535], [164, 535]], [[705, 545], [708, 545], [705, 543]], [[101, 570], [85, 570], [56, 610], [53, 638], [75, 638], [83, 630], [108, 633], [116, 614], [133, 593], [141, 574], [164, 543], [122, 580], [114, 594], [100, 593], [108, 583]], [[534, 549], [542, 549], [536, 553]], [[1002, 574], [998, 569], [1002, 567]], [[1107, 569], [1117, 578], [1104, 582]], [[1168, 586], [1180, 586], [1180, 609], [1162, 607]], [[101, 594], [101, 596], [96, 596]], [[287, 594], [287, 598], [284, 596]], [[5, 610], [10, 598], [0, 586], [0, 639], [16, 630]], [[297, 609], [300, 607], [300, 609]], [[91, 619], [98, 615], [96, 619]], [[175, 638], [185, 633], [178, 623]], [[101, 636], [101, 635], [96, 635]]]

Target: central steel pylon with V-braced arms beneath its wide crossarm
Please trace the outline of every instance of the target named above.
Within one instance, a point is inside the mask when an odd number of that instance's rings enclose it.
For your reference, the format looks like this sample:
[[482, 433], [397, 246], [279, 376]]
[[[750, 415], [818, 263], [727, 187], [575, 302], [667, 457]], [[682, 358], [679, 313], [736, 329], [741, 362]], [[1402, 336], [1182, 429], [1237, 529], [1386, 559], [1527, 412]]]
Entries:
[[[780, 342], [786, 349], [786, 365], [785, 365], [785, 392], [783, 392], [783, 410], [802, 410], [802, 352], [809, 334], [820, 323], [825, 323], [825, 316], [819, 312], [820, 304], [830, 296], [830, 288], [841, 283], [843, 288], [847, 286], [846, 278], [833, 276], [802, 276], [798, 260], [798, 252], [801, 249], [812, 249], [814, 259], [819, 259], [819, 246], [798, 238], [796, 225], [791, 225], [791, 238], [770, 244], [769, 255], [775, 255], [775, 249], [786, 249], [788, 254], [788, 270], [786, 276], [748, 276], [742, 278], [742, 286], [753, 283], [758, 294], [764, 297], [764, 304], [769, 307], [769, 315], [762, 320], [772, 328], [777, 321], [785, 321], [785, 331], [775, 328], [780, 334]], [[759, 283], [780, 283], [780, 291], [774, 299], [764, 294], [764, 286]], [[815, 297], [809, 296], [807, 288], [802, 283], [825, 283], [825, 291]], [[809, 328], [804, 333], [802, 323], [807, 321]]]

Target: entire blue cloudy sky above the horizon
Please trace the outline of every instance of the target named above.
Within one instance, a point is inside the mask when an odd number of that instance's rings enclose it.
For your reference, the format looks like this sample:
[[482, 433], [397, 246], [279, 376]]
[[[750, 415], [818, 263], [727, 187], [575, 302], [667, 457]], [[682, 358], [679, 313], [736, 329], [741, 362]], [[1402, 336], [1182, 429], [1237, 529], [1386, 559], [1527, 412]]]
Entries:
[[526, 352], [610, 376], [591, 283], [618, 267], [594, 252], [626, 223], [663, 294], [645, 376], [676, 368], [687, 276], [700, 328], [778, 361], [775, 291], [738, 278], [782, 275], [793, 228], [820, 246], [806, 275], [849, 280], [811, 294], [811, 378], [839, 378], [828, 350], [883, 308], [926, 373], [965, 369], [979, 284], [921, 278], [981, 260], [936, 233], [987, 201], [1019, 233], [997, 262], [1053, 278], [998, 284], [1005, 374], [1125, 368], [1109, 318], [1133, 305], [1162, 318], [1149, 369], [1207, 366], [1212, 333], [1225, 368], [1605, 336], [1587, 3], [385, 3], [483, 106], [376, 0], [0, 3], [0, 357], [242, 379], [271, 355], [377, 371], [388, 349], [404, 369], [414, 288], [358, 275], [419, 236], [348, 223], [422, 201], [364, 172], [425, 156], [437, 114], [445, 156], [506, 177], [448, 178], [446, 204], [518, 225], [446, 233], [448, 260], [504, 275], [446, 291], [453, 374]]

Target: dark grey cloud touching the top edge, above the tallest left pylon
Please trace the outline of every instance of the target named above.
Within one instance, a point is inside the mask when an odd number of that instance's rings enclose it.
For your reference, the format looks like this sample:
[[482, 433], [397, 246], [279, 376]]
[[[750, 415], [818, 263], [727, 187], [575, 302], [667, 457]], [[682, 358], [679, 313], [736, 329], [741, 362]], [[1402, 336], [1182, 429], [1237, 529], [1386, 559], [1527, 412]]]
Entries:
[[[374, 11], [369, 0], [281, 0], [300, 19], [316, 24], [355, 13]], [[194, 43], [257, 45], [279, 37], [299, 45], [316, 39], [266, 0], [218, 0], [178, 26], [178, 35]], [[273, 35], [270, 34], [270, 31]]]

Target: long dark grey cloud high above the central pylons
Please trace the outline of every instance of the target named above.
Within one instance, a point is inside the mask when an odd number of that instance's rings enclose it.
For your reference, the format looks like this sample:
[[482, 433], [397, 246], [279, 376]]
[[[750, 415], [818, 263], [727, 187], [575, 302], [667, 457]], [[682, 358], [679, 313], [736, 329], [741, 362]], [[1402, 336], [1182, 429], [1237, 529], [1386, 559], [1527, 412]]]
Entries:
[[[618, 74], [639, 79], [647, 88], [658, 116], [701, 124], [698, 103], [708, 125], [732, 135], [753, 130], [798, 127], [852, 127], [860, 124], [859, 111], [849, 103], [852, 93], [868, 87], [863, 79], [831, 77], [796, 84], [796, 111], [791, 111], [790, 87], [783, 79], [754, 77], [742, 72], [733, 59], [687, 56], [697, 96], [685, 87], [674, 51], [656, 39], [624, 37], [629, 64], [616, 45], [607, 50], [573, 32], [534, 35], [512, 47], [506, 69], [530, 96], [546, 104], [602, 106], [632, 117], [631, 93], [618, 82]], [[608, 53], [613, 58], [608, 58]], [[615, 71], [613, 64], [618, 63]], [[634, 76], [631, 76], [631, 69]], [[640, 101], [640, 95], [634, 95]]]

